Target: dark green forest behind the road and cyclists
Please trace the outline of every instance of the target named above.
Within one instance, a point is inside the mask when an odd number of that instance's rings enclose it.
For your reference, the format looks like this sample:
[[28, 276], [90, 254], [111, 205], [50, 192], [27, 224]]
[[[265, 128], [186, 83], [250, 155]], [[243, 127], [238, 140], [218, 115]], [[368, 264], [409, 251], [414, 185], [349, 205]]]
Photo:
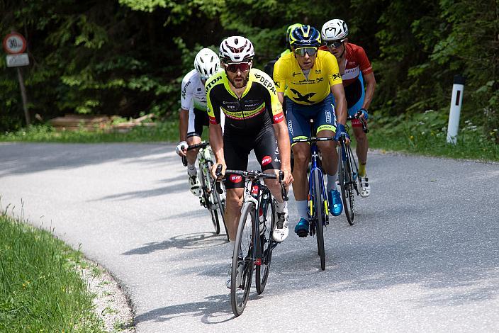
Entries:
[[[35, 123], [65, 113], [173, 121], [181, 79], [202, 47], [218, 50], [228, 35], [245, 35], [262, 69], [286, 48], [288, 25], [320, 29], [342, 18], [374, 67], [374, 122], [396, 126], [431, 113], [421, 133], [445, 132], [453, 78], [462, 74], [461, 124], [499, 144], [496, 0], [1, 0], [0, 13], [1, 38], [16, 30], [28, 40], [22, 73]], [[5, 58], [1, 132], [26, 125], [16, 70]]]

